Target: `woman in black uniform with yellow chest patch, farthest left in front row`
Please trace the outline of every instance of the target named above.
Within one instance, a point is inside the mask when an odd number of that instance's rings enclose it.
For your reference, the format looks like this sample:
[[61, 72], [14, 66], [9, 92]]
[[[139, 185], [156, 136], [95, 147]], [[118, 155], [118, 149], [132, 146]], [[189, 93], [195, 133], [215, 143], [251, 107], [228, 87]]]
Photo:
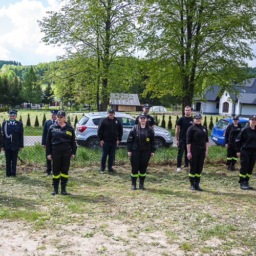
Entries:
[[52, 159], [52, 195], [58, 194], [59, 180], [61, 194], [68, 195], [66, 185], [68, 183], [70, 158], [74, 158], [77, 150], [75, 132], [73, 127], [66, 123], [66, 113], [62, 110], [57, 113], [57, 123], [50, 126], [46, 139], [46, 153], [49, 160]]

